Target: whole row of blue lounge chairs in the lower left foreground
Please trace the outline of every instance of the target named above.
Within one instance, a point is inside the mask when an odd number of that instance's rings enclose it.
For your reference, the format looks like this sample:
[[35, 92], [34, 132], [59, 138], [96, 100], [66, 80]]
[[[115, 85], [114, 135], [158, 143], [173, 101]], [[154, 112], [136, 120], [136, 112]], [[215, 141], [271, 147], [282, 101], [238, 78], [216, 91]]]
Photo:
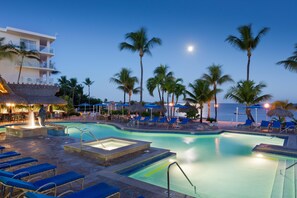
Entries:
[[[3, 151], [5, 147], [0, 147]], [[20, 153], [10, 151], [2, 152], [0, 154], [0, 160], [7, 158], [14, 158], [20, 156]], [[69, 171], [62, 174], [56, 174], [56, 166], [48, 163], [35, 164], [37, 159], [31, 157], [11, 159], [8, 161], [0, 162], [0, 184], [1, 192], [0, 196], [3, 198], [8, 197], [28, 197], [28, 198], [42, 198], [52, 197], [44, 194], [52, 193], [54, 197], [57, 195], [57, 188], [70, 185], [78, 182], [81, 185], [81, 191], [73, 192], [66, 191], [65, 197], [88, 197], [88, 198], [101, 198], [101, 197], [119, 197], [119, 188], [110, 186], [106, 183], [98, 183], [86, 189], [83, 189], [85, 176], [74, 171]], [[18, 166], [25, 166], [17, 168]], [[29, 165], [29, 166], [28, 166]], [[12, 169], [13, 170], [10, 170]], [[33, 176], [37, 174], [47, 173], [46, 178], [33, 180]], [[39, 176], [40, 176], [39, 175]], [[36, 177], [37, 178], [37, 177]], [[35, 179], [36, 179], [35, 178]], [[63, 196], [65, 193], [62, 193]], [[62, 195], [59, 195], [59, 197]]]

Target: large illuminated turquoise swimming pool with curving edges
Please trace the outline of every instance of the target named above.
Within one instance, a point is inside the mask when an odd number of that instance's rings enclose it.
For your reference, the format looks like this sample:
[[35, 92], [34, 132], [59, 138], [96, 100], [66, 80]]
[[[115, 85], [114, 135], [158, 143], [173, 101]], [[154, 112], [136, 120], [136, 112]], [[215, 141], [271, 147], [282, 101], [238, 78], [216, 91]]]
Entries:
[[[284, 140], [267, 136], [223, 133], [221, 135], [185, 135], [138, 133], [119, 130], [99, 124], [63, 123], [66, 126], [87, 127], [98, 138], [116, 136], [152, 142], [153, 147], [170, 149], [177, 153], [176, 161], [197, 186], [198, 195], [176, 166], [171, 169], [171, 189], [192, 196], [216, 197], [270, 197], [279, 161], [276, 156], [265, 157], [252, 153], [260, 143], [283, 145]], [[77, 129], [69, 129], [70, 136], [79, 137]], [[88, 136], [85, 136], [86, 140]], [[169, 160], [150, 165], [129, 177], [164, 188]]]

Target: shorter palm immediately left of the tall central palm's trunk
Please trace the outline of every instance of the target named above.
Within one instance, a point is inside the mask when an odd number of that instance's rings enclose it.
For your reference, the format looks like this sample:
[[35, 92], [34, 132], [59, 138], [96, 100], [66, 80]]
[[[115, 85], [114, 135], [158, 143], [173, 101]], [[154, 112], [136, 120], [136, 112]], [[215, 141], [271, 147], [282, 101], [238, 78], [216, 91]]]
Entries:
[[[131, 76], [132, 71], [127, 68], [122, 68], [119, 73], [116, 73], [114, 77], [110, 78], [110, 82], [113, 82], [118, 85], [118, 89], [124, 92], [124, 103], [126, 102], [126, 93], [129, 94], [128, 87], [133, 84], [132, 82], [138, 83], [136, 76]], [[133, 87], [134, 87], [133, 84]]]

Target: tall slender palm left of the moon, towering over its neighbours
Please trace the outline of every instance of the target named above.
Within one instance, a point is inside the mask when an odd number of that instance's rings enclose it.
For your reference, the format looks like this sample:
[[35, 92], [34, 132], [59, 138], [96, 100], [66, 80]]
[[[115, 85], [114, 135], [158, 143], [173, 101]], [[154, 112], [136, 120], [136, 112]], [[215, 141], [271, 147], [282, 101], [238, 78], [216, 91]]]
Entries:
[[127, 33], [125, 36], [126, 40], [129, 40], [131, 43], [122, 42], [120, 43], [120, 50], [126, 49], [132, 52], [139, 52], [140, 57], [140, 102], [142, 102], [142, 92], [143, 92], [143, 64], [142, 57], [144, 54], [151, 55], [150, 49], [155, 45], [161, 45], [162, 41], [160, 38], [153, 37], [148, 39], [147, 32], [145, 28], [140, 28], [136, 32]]

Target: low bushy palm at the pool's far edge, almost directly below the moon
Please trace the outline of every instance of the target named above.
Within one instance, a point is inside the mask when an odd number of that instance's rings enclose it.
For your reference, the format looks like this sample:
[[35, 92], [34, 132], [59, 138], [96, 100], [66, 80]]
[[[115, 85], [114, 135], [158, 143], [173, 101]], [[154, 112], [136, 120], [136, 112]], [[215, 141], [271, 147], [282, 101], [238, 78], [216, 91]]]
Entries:
[[206, 80], [198, 79], [192, 84], [189, 84], [189, 87], [192, 91], [186, 90], [188, 98], [185, 98], [186, 101], [199, 104], [200, 109], [200, 122], [202, 123], [203, 118], [203, 104], [211, 100], [214, 95], [214, 91], [209, 88], [210, 84]]

